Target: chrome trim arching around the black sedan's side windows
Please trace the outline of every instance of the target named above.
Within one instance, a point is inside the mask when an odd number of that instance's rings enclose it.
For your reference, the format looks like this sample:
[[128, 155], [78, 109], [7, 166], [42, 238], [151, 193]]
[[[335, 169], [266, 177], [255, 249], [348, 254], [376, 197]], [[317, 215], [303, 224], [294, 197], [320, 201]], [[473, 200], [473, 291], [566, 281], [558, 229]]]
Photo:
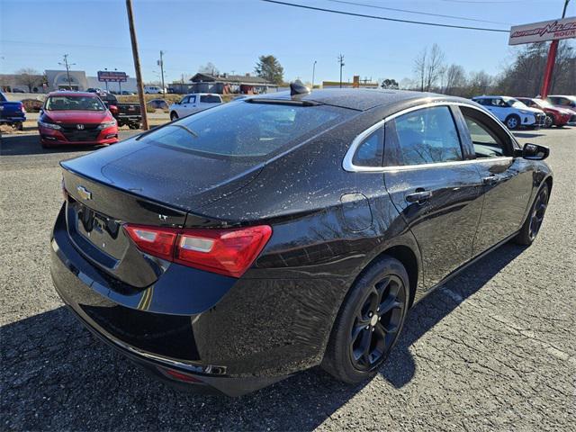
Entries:
[[[386, 117], [384, 120], [378, 121], [377, 123], [370, 126], [368, 129], [359, 133], [356, 136], [356, 138], [352, 141], [350, 148], [348, 148], [348, 151], [347, 151], [346, 155], [344, 156], [344, 159], [342, 160], [342, 167], [344, 168], [345, 171], [350, 172], [350, 173], [386, 173], [386, 172], [390, 172], [390, 171], [406, 171], [406, 170], [410, 170], [410, 169], [422, 169], [425, 167], [435, 167], [435, 166], [464, 165], [464, 164], [471, 164], [474, 162], [507, 160], [507, 159], [513, 158], [510, 156], [481, 157], [481, 158], [476, 158], [476, 159], [455, 160], [455, 161], [449, 161], [449, 162], [436, 162], [433, 164], [402, 165], [402, 166], [357, 166], [352, 162], [352, 160], [354, 159], [354, 155], [356, 154], [356, 150], [360, 146], [360, 144], [362, 144], [366, 138], [368, 138], [372, 133], [374, 133], [375, 130], [379, 130], [380, 128], [382, 128], [384, 126], [384, 124], [386, 124], [387, 121], [391, 121], [391, 120], [395, 119], [396, 117], [400, 117], [401, 115], [406, 114], [408, 112], [418, 111], [418, 110], [422, 110], [425, 108], [436, 107], [436, 106], [453, 106], [453, 105], [465, 106], [466, 108], [472, 108], [473, 110], [480, 111], [484, 114], [487, 114], [489, 117], [491, 117], [492, 120], [494, 120], [498, 124], [500, 124], [500, 126], [503, 130], [506, 130], [506, 133], [509, 135], [510, 139], [512, 140], [513, 145], [515, 143], [517, 143], [516, 139], [510, 133], [510, 131], [506, 128], [506, 126], [504, 126], [502, 124], [502, 122], [500, 120], [498, 120], [498, 117], [496, 117], [494, 114], [492, 114], [488, 110], [485, 110], [483, 108], [479, 108], [478, 106], [474, 106], [471, 103], [464, 103], [464, 102], [447, 102], [447, 101], [443, 102], [443, 101], [440, 101], [440, 102], [422, 103], [420, 105], [411, 106], [410, 108], [406, 108], [406, 109], [401, 110], [399, 112], [394, 112], [393, 114]], [[456, 124], [455, 124], [455, 127], [457, 128]]]

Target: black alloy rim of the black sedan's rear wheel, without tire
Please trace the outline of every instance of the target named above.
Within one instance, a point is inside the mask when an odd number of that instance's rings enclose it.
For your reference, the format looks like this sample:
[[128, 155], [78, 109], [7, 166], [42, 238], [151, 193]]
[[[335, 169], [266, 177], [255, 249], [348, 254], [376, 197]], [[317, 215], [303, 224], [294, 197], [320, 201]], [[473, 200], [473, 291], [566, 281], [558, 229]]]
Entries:
[[378, 281], [356, 308], [348, 345], [352, 364], [360, 371], [380, 365], [401, 326], [406, 290], [398, 276]]

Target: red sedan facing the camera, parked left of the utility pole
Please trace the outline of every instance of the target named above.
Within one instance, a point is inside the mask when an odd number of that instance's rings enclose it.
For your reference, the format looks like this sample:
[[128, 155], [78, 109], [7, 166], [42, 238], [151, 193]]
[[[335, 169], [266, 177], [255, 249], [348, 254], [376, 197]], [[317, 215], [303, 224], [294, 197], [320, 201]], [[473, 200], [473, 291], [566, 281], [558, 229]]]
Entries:
[[38, 130], [44, 148], [118, 142], [118, 125], [112, 113], [93, 93], [50, 93], [38, 119]]

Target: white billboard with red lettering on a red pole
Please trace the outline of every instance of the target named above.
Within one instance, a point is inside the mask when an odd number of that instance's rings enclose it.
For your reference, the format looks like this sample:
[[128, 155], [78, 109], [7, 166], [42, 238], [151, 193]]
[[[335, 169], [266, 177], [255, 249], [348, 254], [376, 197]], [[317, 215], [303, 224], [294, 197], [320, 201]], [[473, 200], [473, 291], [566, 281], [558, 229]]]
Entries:
[[510, 29], [509, 45], [576, 38], [576, 17], [515, 25]]

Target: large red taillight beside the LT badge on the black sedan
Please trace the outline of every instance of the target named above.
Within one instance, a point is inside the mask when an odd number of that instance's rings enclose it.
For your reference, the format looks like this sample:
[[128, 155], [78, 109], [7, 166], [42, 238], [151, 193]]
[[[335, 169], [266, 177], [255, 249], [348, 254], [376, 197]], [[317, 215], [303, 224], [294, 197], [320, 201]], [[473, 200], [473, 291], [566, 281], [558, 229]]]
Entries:
[[168, 261], [240, 277], [272, 236], [268, 225], [235, 229], [171, 229], [125, 224], [140, 250]]

